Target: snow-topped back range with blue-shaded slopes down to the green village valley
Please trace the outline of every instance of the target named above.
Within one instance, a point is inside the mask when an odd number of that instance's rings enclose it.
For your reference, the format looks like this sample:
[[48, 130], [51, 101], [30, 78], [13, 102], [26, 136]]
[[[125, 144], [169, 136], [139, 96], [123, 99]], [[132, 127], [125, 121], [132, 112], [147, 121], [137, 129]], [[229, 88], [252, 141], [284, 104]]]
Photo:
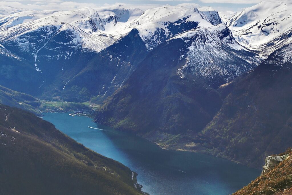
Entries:
[[[37, 73], [42, 78], [41, 81], [36, 81], [37, 87], [31, 88], [34, 94], [44, 98], [58, 98], [64, 94], [65, 99], [75, 100], [84, 95], [82, 99], [88, 99], [112, 94], [117, 89], [114, 85], [121, 85], [131, 75], [131, 71], [134, 71], [135, 65], [145, 57], [143, 53], [167, 39], [186, 30], [212, 27], [221, 22], [218, 12], [211, 8], [183, 6], [154, 8], [144, 13], [121, 5], [97, 10], [83, 8], [72, 11], [25, 11], [0, 19], [0, 43], [9, 53], [30, 63], [35, 69], [34, 74]], [[139, 36], [134, 36], [133, 33]], [[137, 44], [137, 48], [121, 48], [121, 43], [125, 42], [129, 34], [130, 37], [135, 37], [133, 42], [140, 43], [142, 39], [146, 49], [141, 44]], [[125, 45], [129, 46], [126, 43]], [[104, 49], [107, 51], [99, 53]], [[129, 54], [140, 49], [140, 56], [129, 58]], [[109, 58], [106, 61], [104, 56], [107, 54], [114, 56], [114, 59]], [[121, 65], [132, 63], [131, 71], [127, 68], [120, 70], [118, 67], [105, 68], [110, 69], [110, 72], [100, 72], [108, 64], [117, 61]], [[89, 70], [90, 80], [84, 74]], [[115, 75], [117, 81], [113, 82]], [[80, 80], [83, 83], [79, 83]], [[100, 82], [96, 87], [88, 87], [86, 81], [96, 80]], [[14, 86], [19, 84], [13, 83]], [[69, 90], [74, 93], [66, 90], [62, 93], [66, 89], [65, 85], [70, 86]], [[105, 97], [98, 98], [98, 101]]]

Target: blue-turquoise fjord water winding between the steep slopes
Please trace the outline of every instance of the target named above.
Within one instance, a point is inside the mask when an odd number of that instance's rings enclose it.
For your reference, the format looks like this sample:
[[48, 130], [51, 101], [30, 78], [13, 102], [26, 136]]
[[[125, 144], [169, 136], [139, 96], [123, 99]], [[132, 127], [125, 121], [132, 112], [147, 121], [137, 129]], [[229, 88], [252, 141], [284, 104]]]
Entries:
[[227, 195], [260, 175], [259, 170], [222, 158], [163, 150], [150, 141], [96, 124], [84, 116], [43, 115], [44, 120], [79, 143], [137, 172], [142, 190], [151, 195]]

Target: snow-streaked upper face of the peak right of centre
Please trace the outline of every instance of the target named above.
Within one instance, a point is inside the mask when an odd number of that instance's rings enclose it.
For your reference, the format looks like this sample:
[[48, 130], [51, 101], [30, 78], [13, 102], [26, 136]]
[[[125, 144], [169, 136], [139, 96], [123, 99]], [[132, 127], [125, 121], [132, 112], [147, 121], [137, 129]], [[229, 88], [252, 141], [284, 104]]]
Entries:
[[188, 46], [182, 56], [186, 63], [177, 70], [181, 78], [191, 73], [216, 88], [259, 63], [258, 55], [238, 44], [224, 24], [192, 29], [172, 39], [178, 38]]

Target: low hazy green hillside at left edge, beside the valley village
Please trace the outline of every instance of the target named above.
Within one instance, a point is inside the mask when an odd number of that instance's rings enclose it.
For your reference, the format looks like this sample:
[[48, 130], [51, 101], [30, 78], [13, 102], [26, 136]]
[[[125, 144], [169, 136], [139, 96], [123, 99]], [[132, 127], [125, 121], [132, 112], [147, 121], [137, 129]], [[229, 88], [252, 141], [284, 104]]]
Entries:
[[37, 107], [41, 103], [33, 96], [16, 92], [0, 85], [0, 103], [16, 108], [22, 108], [35, 114], [41, 114]]

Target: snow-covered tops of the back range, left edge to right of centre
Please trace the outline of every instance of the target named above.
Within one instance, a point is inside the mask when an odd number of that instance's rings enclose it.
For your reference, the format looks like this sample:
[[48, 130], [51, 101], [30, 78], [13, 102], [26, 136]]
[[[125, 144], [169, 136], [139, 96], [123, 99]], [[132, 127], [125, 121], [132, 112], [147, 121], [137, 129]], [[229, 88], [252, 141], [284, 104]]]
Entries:
[[[99, 8], [97, 11], [83, 8], [57, 12], [20, 12], [0, 20], [0, 42], [3, 45], [9, 44], [6, 42], [18, 44], [20, 49], [32, 47], [34, 53], [37, 53], [44, 45], [37, 47], [35, 42], [46, 43], [46, 40], [51, 41], [53, 36], [66, 33], [67, 37], [71, 37], [69, 39], [74, 47], [79, 46], [99, 52], [136, 28], [147, 48], [151, 50], [185, 30], [221, 23], [217, 11], [210, 8], [199, 9], [201, 11], [197, 8], [167, 6], [149, 9], [142, 13], [140, 9], [116, 5]], [[32, 33], [38, 34], [38, 32], [47, 35], [37, 40], [31, 37]], [[26, 37], [26, 34], [30, 36]]]

